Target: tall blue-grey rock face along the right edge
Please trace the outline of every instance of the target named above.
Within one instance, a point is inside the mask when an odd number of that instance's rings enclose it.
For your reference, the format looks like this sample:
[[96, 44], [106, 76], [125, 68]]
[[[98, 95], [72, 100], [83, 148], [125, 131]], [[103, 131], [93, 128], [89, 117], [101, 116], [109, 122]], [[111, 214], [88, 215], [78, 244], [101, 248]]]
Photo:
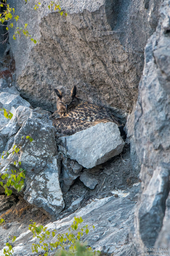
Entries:
[[[142, 193], [135, 212], [135, 237], [141, 251], [154, 246], [161, 228], [169, 236], [169, 229], [164, 226], [166, 220], [163, 221], [170, 170], [169, 12], [170, 2], [164, 1], [159, 25], [145, 48], [145, 67], [135, 112], [135, 142], [142, 162]], [[168, 209], [165, 219], [167, 216]], [[168, 247], [169, 242], [163, 236], [158, 240], [159, 247]]]

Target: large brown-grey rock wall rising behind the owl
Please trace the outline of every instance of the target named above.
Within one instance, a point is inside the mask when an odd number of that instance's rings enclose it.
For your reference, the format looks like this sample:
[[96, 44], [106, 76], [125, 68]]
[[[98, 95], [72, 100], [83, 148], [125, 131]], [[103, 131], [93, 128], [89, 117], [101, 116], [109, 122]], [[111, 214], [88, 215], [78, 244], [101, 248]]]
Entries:
[[30, 34], [40, 41], [35, 45], [24, 36], [14, 41], [11, 31], [21, 94], [32, 106], [54, 111], [54, 88], [70, 94], [75, 84], [84, 100], [132, 109], [143, 50], [155, 31], [162, 1], [63, 0], [61, 8], [68, 13], [64, 18], [51, 13], [46, 0], [36, 12], [31, 1], [11, 0], [20, 19], [30, 24]]

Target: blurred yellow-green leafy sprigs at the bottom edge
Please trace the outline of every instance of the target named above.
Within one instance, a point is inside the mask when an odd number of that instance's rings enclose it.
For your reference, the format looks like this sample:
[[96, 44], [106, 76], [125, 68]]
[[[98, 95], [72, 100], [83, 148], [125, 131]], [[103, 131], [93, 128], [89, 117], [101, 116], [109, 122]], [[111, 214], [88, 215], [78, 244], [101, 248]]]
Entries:
[[[30, 220], [32, 221], [32, 220]], [[80, 243], [80, 238], [83, 236], [83, 232], [88, 235], [88, 228], [83, 226], [78, 229], [78, 226], [83, 222], [82, 217], [74, 217], [73, 224], [68, 229], [69, 232], [63, 234], [56, 234], [56, 230], [53, 231], [47, 230], [47, 227], [43, 225], [36, 226], [36, 223], [32, 221], [29, 225], [29, 230], [32, 232], [33, 237], [35, 238], [35, 243], [32, 244], [32, 253], [38, 253], [38, 250], [41, 249], [44, 252], [39, 254], [39, 256], [98, 256], [100, 251], [93, 251], [91, 247], [87, 246], [85, 243]], [[93, 229], [95, 227], [93, 226]], [[77, 230], [77, 235], [74, 235], [71, 232]], [[53, 242], [53, 240], [56, 240]], [[12, 242], [16, 240], [14, 236]], [[32, 240], [32, 239], [31, 239]], [[4, 248], [4, 255], [10, 256], [13, 252], [12, 246], [9, 243], [6, 243], [7, 249]]]

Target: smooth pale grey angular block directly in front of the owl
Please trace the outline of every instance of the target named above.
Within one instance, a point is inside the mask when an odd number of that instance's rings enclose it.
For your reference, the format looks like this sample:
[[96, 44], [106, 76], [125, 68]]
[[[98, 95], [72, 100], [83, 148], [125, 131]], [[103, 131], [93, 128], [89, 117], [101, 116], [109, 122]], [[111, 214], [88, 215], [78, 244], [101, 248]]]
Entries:
[[70, 158], [85, 168], [92, 168], [119, 155], [124, 147], [117, 124], [99, 123], [86, 130], [61, 137]]

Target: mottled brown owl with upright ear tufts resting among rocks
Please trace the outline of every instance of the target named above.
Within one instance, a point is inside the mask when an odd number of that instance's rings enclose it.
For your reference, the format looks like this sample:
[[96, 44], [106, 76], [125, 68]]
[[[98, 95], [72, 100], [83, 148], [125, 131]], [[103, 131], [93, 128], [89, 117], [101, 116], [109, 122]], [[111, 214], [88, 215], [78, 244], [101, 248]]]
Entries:
[[71, 135], [101, 122], [114, 122], [120, 126], [119, 121], [109, 109], [78, 98], [76, 86], [71, 90], [70, 99], [63, 97], [57, 89], [55, 92], [58, 96], [57, 112], [55, 111], [51, 117], [55, 118], [56, 113], [60, 115], [60, 118], [53, 120], [53, 125], [59, 133]]

